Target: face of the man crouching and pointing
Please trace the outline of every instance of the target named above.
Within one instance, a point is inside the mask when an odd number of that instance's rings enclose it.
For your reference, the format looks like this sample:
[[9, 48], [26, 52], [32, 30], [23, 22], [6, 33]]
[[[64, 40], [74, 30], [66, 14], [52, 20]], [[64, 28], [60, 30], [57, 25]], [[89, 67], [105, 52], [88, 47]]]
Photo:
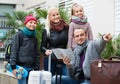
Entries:
[[85, 30], [83, 29], [75, 29], [74, 30], [74, 40], [77, 44], [83, 44], [87, 39], [87, 35]]

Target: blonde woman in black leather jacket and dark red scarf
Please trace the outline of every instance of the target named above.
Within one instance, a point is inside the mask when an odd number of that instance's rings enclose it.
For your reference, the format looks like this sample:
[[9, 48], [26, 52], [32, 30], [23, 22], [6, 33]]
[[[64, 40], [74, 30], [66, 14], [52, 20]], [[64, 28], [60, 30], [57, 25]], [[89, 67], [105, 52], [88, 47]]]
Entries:
[[[68, 25], [60, 18], [59, 10], [56, 7], [52, 7], [48, 10], [46, 26], [42, 36], [41, 50], [46, 55], [44, 68], [47, 70], [48, 56], [52, 53], [52, 49], [65, 49], [68, 41]], [[67, 75], [66, 65], [61, 60], [57, 60], [53, 53], [51, 56], [52, 75], [55, 75], [56, 65], [58, 64], [62, 65], [62, 75]]]

